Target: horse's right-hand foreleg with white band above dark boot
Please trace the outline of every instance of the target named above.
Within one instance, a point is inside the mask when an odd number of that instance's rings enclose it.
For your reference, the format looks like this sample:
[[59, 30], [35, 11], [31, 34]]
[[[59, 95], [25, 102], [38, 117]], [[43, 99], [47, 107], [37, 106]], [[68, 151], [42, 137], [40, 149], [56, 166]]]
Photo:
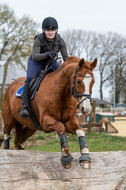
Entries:
[[91, 159], [89, 157], [89, 150], [86, 143], [84, 130], [79, 126], [79, 122], [76, 117], [72, 117], [68, 122], [64, 123], [64, 125], [67, 132], [78, 136], [81, 153], [79, 158], [80, 166], [84, 169], [89, 169]]

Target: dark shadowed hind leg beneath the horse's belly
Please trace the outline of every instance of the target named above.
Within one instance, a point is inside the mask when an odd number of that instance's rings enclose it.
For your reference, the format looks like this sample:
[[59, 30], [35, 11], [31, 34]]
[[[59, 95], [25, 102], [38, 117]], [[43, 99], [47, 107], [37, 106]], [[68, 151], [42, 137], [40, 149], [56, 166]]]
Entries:
[[22, 147], [24, 142], [35, 132], [36, 130], [31, 130], [27, 127], [23, 127], [20, 123], [16, 123], [14, 139], [15, 149], [24, 149]]

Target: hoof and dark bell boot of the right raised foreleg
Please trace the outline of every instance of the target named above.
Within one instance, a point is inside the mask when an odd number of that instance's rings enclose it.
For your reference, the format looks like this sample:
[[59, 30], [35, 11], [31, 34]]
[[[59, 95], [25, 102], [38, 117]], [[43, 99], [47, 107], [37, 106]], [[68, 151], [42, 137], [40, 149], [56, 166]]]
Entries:
[[91, 158], [89, 154], [82, 154], [79, 158], [80, 167], [83, 169], [90, 169]]

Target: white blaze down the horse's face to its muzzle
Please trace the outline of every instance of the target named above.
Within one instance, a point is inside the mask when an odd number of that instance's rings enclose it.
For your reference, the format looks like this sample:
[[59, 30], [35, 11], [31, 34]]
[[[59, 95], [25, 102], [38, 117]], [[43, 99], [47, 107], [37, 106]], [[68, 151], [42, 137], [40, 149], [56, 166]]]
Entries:
[[[84, 79], [83, 79], [83, 83], [84, 83], [84, 86], [85, 86], [85, 92], [84, 92], [85, 95], [90, 95], [89, 90], [90, 90], [91, 81], [92, 81], [92, 76], [89, 75], [89, 74], [86, 74]], [[84, 113], [89, 113], [91, 111], [90, 99], [86, 98], [86, 97], [82, 97], [82, 100], [83, 99], [84, 99], [84, 101], [82, 102], [82, 104], [83, 104], [82, 107], [84, 108], [83, 111], [84, 111]]]

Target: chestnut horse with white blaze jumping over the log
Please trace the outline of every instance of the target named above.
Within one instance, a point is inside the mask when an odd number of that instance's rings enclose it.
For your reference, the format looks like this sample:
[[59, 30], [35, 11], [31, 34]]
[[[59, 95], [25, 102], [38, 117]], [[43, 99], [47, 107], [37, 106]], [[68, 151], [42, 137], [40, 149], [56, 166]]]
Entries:
[[[65, 132], [76, 134], [80, 144], [80, 163], [90, 162], [85, 133], [76, 117], [77, 104], [82, 113], [91, 111], [90, 94], [94, 84], [92, 70], [97, 59], [87, 62], [77, 57], [69, 57], [55, 72], [47, 74], [36, 91], [31, 104], [36, 118], [45, 133], [56, 131], [61, 144], [61, 163], [71, 167], [72, 156], [69, 153]], [[25, 78], [19, 78], [25, 81]], [[13, 81], [7, 88], [3, 100], [2, 116], [4, 121], [4, 148], [9, 149], [9, 135], [15, 129], [14, 144], [21, 149], [21, 144], [32, 136], [37, 128], [30, 118], [22, 118], [21, 98], [15, 96], [21, 87], [19, 81]]]

